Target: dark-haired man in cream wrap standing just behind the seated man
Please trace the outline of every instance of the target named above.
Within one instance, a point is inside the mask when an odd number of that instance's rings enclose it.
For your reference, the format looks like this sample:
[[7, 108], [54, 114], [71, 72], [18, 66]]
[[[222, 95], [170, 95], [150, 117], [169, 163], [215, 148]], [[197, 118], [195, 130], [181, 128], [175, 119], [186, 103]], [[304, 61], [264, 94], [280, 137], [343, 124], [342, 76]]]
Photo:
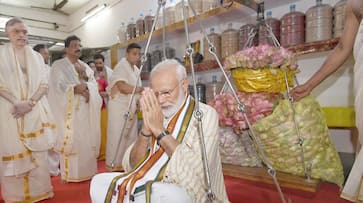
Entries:
[[[141, 80], [138, 80], [140, 73], [136, 64], [140, 61], [140, 49], [138, 44], [131, 43], [126, 48], [126, 56], [120, 60], [113, 70], [110, 82], [107, 87], [109, 94], [108, 101], [108, 122], [107, 122], [107, 145], [106, 145], [106, 167], [109, 171], [121, 171], [121, 160], [126, 148], [136, 140], [137, 137], [137, 116], [136, 103], [143, 90]], [[136, 85], [136, 95], [131, 103], [129, 101], [132, 91]], [[130, 116], [125, 120], [125, 114]], [[122, 127], [125, 129], [121, 135]], [[118, 148], [120, 136], [121, 143]], [[117, 152], [117, 148], [119, 149]], [[116, 156], [115, 156], [116, 155]], [[116, 157], [112, 166], [113, 159]]]

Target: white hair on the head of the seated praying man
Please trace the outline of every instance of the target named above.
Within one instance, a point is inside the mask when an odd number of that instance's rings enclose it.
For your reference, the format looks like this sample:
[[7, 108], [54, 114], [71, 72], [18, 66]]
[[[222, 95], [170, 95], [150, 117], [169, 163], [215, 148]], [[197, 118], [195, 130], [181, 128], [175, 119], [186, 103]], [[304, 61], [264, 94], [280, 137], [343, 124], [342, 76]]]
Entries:
[[185, 67], [175, 59], [166, 59], [158, 64], [151, 70], [150, 78], [152, 78], [158, 72], [165, 71], [166, 69], [174, 68], [178, 80], [182, 80], [187, 77], [187, 71]]

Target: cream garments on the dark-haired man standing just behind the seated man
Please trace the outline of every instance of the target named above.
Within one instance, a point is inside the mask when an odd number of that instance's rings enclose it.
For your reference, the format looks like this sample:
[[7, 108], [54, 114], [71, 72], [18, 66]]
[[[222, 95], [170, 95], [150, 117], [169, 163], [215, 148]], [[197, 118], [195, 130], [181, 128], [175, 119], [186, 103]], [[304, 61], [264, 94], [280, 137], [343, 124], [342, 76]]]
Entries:
[[[124, 81], [127, 84], [134, 86], [141, 86], [141, 80], [137, 81], [139, 69], [134, 66], [131, 67], [130, 63], [122, 58], [113, 70], [107, 92], [109, 93], [108, 101], [108, 122], [107, 122], [107, 145], [106, 145], [106, 166], [109, 170], [120, 170], [121, 160], [126, 151], [126, 148], [132, 144], [137, 138], [137, 116], [136, 116], [136, 101], [138, 95], [136, 94], [128, 109], [131, 94], [122, 94], [118, 90], [116, 83]], [[117, 145], [121, 136], [122, 126], [124, 125], [124, 115], [130, 112], [129, 119], [126, 122], [126, 127], [122, 134], [122, 140], [115, 159], [115, 165], [111, 168], [111, 163], [115, 158]]]

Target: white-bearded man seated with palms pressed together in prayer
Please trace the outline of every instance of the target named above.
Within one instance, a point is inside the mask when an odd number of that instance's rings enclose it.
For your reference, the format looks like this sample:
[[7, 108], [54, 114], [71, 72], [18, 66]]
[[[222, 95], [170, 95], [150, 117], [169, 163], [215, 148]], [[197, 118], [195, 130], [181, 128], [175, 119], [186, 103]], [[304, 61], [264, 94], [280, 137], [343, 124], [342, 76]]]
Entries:
[[[143, 126], [122, 160], [125, 173], [102, 173], [91, 182], [92, 202], [206, 202], [195, 99], [188, 94], [185, 67], [165, 60], [150, 73], [140, 98]], [[218, 142], [218, 114], [199, 103], [214, 202], [229, 202]]]

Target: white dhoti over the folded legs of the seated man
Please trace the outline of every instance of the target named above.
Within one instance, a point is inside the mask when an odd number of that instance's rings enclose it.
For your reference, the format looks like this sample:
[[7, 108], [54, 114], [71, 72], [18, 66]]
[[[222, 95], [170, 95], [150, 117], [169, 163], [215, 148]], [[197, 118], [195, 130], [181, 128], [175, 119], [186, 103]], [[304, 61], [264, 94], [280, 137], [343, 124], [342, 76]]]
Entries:
[[[91, 182], [90, 195], [93, 203], [104, 203], [108, 187], [116, 176], [121, 173], [102, 173], [93, 177]], [[120, 184], [120, 183], [118, 183]], [[155, 182], [151, 187], [151, 202], [152, 203], [192, 203], [193, 200], [189, 194], [176, 184]], [[133, 203], [145, 203], [145, 190], [140, 190], [133, 196]], [[114, 194], [111, 202], [117, 202], [118, 193]], [[124, 203], [130, 202], [129, 199], [124, 199]]]

